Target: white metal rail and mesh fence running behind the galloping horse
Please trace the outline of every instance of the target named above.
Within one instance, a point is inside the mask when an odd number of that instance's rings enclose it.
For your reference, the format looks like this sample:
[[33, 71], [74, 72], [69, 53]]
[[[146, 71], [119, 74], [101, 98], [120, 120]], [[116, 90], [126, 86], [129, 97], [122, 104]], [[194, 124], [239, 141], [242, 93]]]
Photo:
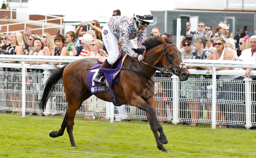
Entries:
[[[13, 60], [5, 58], [3, 60]], [[19, 55], [15, 55], [19, 57]], [[22, 56], [22, 55], [21, 55]], [[6, 56], [7, 57], [7, 56]], [[11, 56], [8, 56], [11, 57]], [[31, 61], [44, 61], [51, 58], [52, 61], [67, 62], [67, 57], [25, 57]], [[56, 59], [55, 59], [56, 58]], [[60, 59], [62, 58], [62, 59]], [[69, 62], [75, 60], [71, 57]], [[79, 59], [79, 58], [76, 58]], [[19, 59], [16, 59], [19, 60]], [[28, 59], [23, 59], [24, 61]], [[48, 59], [49, 60], [49, 59]], [[0, 63], [1, 67], [20, 67], [20, 64]], [[51, 65], [23, 64], [23, 68], [44, 69], [43, 73], [28, 71], [25, 73], [25, 111], [40, 113], [38, 103], [43, 92], [43, 83], [48, 78]], [[249, 78], [240, 80], [202, 79], [200, 75], [205, 70], [189, 70], [192, 74], [198, 74], [198, 78], [187, 81], [179, 81], [176, 75], [171, 78], [155, 77], [155, 103], [156, 114], [159, 120], [178, 122], [214, 123], [226, 125], [246, 125], [247, 128], [256, 126], [256, 81]], [[210, 72], [212, 74], [213, 72]], [[217, 75], [243, 74], [244, 70], [216, 71]], [[256, 74], [255, 71], [251, 72]], [[0, 110], [22, 111], [22, 72], [0, 71]], [[214, 81], [215, 80], [215, 81]], [[216, 84], [214, 84], [216, 83]], [[214, 88], [214, 85], [216, 89]], [[233, 87], [236, 87], [235, 89]], [[213, 94], [216, 94], [214, 96]], [[215, 99], [216, 98], [216, 99]], [[216, 103], [216, 104], [215, 104]], [[48, 107], [44, 114], [64, 114], [67, 108], [65, 92], [62, 80], [56, 85], [50, 97]], [[147, 119], [145, 111], [130, 105], [114, 107], [113, 104], [90, 97], [76, 112], [77, 115], [105, 116], [107, 119], [114, 117], [127, 117], [135, 119]]]

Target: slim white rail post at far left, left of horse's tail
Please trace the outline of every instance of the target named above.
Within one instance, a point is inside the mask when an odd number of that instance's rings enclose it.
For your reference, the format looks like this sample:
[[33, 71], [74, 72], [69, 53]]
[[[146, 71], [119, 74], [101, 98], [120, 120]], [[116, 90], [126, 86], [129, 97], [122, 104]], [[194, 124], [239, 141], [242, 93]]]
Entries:
[[26, 75], [25, 75], [25, 65], [24, 61], [20, 61], [21, 63], [21, 108], [22, 108], [22, 117], [25, 118], [26, 111]]

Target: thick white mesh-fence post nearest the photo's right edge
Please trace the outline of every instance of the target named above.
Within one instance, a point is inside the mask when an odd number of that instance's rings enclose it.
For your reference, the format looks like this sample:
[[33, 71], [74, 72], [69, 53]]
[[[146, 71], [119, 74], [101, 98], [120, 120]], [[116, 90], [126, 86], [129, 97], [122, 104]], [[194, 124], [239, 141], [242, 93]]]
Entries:
[[245, 88], [245, 128], [252, 127], [251, 125], [251, 78], [244, 78]]

